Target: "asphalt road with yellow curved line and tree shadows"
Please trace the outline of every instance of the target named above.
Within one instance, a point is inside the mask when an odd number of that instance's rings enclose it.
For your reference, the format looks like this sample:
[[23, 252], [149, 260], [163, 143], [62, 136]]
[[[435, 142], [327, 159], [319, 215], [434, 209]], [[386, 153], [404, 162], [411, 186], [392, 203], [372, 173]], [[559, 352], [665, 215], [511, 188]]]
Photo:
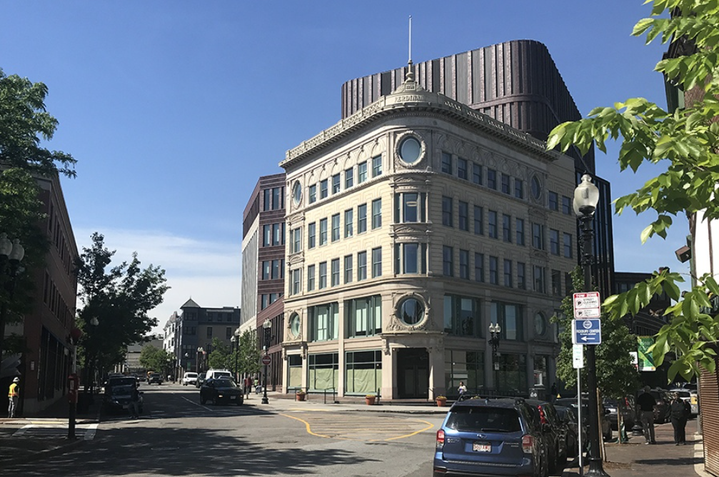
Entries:
[[[430, 476], [441, 415], [199, 403], [179, 385], [141, 387], [145, 413], [104, 416], [92, 440], [4, 468], [17, 476]], [[279, 401], [279, 400], [277, 400]]]

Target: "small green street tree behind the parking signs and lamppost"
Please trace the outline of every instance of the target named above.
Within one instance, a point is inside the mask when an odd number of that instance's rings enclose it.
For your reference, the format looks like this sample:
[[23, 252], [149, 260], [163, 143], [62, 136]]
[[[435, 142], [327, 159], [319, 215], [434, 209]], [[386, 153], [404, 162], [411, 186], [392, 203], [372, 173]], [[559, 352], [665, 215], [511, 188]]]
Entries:
[[[574, 291], [582, 290], [583, 276], [577, 268], [572, 273]], [[559, 343], [562, 345], [557, 357], [557, 377], [567, 386], [577, 384], [577, 370], [572, 363], [572, 319], [574, 304], [572, 296], [562, 300], [562, 316], [555, 315], [552, 321], [559, 324]], [[596, 345], [597, 388], [601, 394], [610, 398], [626, 396], [628, 390], [637, 389], [638, 375], [629, 353], [636, 351], [636, 336], [620, 319], [603, 319], [602, 344]], [[582, 381], [587, 382], [586, 371], [582, 371]]]

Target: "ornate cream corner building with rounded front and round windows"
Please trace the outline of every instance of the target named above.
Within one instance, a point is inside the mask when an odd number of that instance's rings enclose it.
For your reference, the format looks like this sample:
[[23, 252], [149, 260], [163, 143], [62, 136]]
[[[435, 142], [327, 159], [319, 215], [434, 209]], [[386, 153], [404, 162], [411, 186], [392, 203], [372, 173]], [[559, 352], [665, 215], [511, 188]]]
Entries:
[[[283, 389], [549, 388], [574, 161], [411, 73], [288, 151]], [[502, 327], [498, 355], [490, 323]]]

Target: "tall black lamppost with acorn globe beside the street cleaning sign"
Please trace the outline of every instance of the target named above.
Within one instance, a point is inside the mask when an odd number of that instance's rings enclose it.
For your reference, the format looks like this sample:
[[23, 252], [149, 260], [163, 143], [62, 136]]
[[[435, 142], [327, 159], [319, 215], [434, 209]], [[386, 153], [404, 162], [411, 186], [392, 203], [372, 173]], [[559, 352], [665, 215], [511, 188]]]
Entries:
[[[599, 189], [592, 183], [589, 174], [582, 176], [582, 183], [574, 189], [574, 214], [582, 223], [582, 269], [584, 271], [584, 291], [592, 291], [593, 238], [592, 219], [599, 203]], [[595, 345], [587, 345], [587, 386], [589, 387], [589, 470], [585, 476], [608, 477], [603, 469], [600, 455], [599, 403], [597, 401], [597, 358]], [[581, 390], [580, 390], [581, 392]]]

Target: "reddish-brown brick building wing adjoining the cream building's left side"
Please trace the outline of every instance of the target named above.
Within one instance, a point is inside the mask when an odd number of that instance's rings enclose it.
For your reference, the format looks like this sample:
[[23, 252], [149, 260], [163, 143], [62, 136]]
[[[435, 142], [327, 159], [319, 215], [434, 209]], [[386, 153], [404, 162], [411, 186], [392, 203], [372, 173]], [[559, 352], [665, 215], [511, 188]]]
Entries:
[[[285, 174], [262, 176], [242, 214], [242, 326], [257, 337], [259, 349], [269, 339], [267, 383], [282, 385], [285, 292]], [[269, 320], [270, 331], [262, 325]]]

